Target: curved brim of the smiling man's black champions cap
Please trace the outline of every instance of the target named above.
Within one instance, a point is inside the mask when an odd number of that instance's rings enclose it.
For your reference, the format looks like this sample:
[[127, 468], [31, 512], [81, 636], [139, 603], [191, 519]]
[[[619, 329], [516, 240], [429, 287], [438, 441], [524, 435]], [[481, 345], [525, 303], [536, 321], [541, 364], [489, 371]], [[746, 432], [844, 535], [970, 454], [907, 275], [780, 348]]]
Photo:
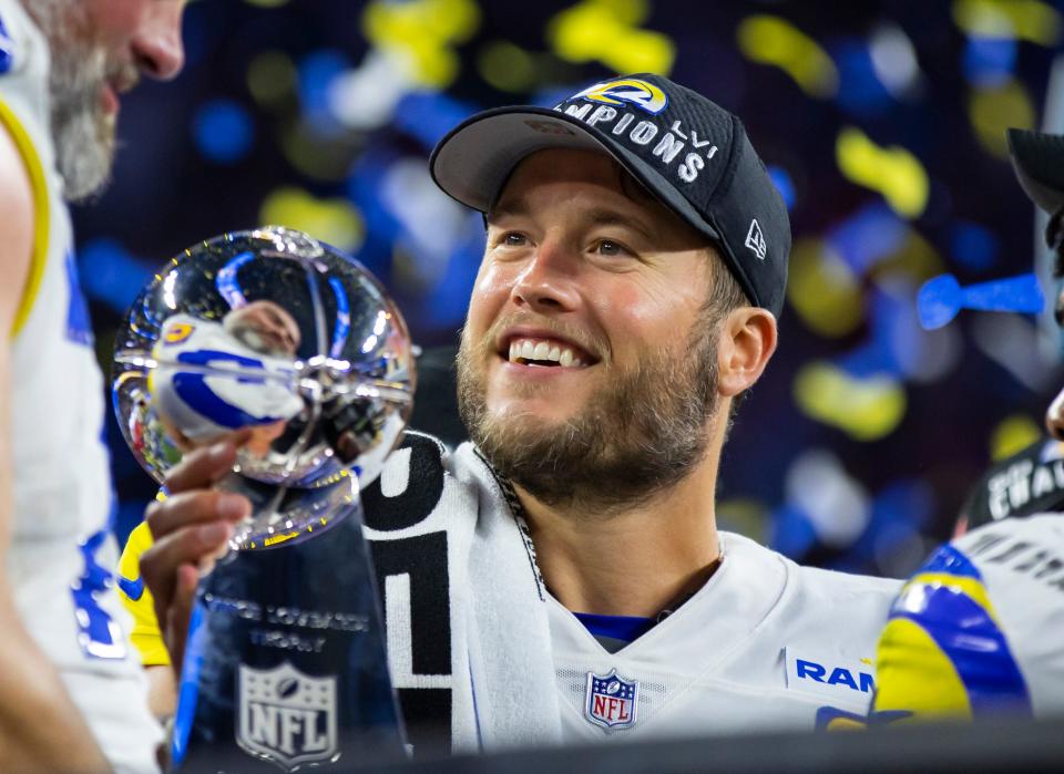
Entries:
[[498, 107], [478, 113], [440, 141], [429, 159], [429, 169], [448, 195], [487, 213], [521, 159], [548, 148], [579, 148], [612, 156], [696, 230], [720, 240], [716, 227], [646, 162], [611, 143], [594, 126], [549, 107]]

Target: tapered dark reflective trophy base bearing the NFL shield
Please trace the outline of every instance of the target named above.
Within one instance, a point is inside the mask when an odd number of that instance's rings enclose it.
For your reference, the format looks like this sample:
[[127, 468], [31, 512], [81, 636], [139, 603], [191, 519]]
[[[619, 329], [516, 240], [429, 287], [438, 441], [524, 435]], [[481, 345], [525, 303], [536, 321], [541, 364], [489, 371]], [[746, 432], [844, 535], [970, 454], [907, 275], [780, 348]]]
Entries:
[[360, 508], [347, 507], [327, 532], [235, 551], [201, 581], [178, 771], [350, 771], [406, 757]]

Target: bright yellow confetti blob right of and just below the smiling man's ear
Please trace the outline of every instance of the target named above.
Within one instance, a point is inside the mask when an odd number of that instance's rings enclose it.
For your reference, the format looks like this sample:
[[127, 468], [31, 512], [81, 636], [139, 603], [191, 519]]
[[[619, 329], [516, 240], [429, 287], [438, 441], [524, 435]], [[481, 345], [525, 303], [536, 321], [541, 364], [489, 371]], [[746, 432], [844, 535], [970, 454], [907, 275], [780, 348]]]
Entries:
[[831, 363], [810, 363], [795, 379], [795, 402], [807, 415], [857, 441], [877, 441], [906, 415], [904, 389], [887, 375], [856, 379]]

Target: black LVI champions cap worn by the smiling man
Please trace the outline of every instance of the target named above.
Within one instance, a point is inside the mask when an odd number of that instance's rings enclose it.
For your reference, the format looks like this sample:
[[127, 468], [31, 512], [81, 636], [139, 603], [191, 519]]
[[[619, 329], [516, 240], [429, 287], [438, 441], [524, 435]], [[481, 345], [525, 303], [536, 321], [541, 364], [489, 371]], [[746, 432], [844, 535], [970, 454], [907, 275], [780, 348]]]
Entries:
[[450, 196], [487, 213], [525, 156], [555, 147], [613, 156], [715, 242], [750, 300], [779, 317], [790, 220], [738, 117], [661, 75], [622, 75], [553, 109], [478, 113], [440, 141], [429, 168]]

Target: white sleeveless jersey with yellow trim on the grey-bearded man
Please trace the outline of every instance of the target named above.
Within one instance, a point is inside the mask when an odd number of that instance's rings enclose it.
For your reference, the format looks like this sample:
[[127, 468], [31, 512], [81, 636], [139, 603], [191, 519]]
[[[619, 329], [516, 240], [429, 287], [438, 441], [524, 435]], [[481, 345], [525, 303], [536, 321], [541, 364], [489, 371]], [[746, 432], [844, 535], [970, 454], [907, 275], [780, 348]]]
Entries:
[[47, 42], [19, 0], [0, 0], [0, 127], [23, 158], [35, 214], [11, 340], [14, 512], [7, 567], [27, 629], [112, 764], [155, 771], [161, 732], [112, 588], [103, 382], [55, 169], [49, 66]]

